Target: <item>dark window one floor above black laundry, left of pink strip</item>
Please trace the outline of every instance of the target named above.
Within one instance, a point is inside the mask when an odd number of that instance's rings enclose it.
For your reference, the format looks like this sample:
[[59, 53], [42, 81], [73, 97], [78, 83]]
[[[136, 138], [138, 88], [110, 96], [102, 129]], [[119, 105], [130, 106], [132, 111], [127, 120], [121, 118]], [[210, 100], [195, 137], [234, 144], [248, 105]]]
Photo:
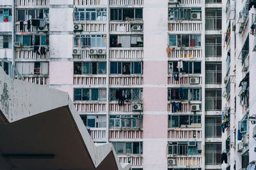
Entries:
[[141, 74], [142, 62], [110, 62], [110, 74]]

